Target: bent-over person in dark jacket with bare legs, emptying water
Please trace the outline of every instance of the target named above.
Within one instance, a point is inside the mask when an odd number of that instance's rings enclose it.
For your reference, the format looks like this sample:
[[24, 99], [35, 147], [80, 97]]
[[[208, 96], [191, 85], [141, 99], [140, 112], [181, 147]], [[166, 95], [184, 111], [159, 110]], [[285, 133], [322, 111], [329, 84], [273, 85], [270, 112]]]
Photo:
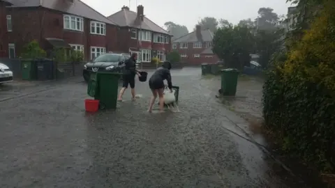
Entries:
[[164, 108], [164, 80], [168, 81], [168, 88], [170, 88], [170, 92], [172, 93], [172, 81], [171, 81], [171, 63], [165, 61], [161, 68], [158, 68], [154, 74], [149, 79], [149, 87], [152, 92], [152, 97], [149, 104], [149, 112], [151, 113], [152, 107], [154, 106], [154, 102], [159, 97], [159, 109], [163, 112]]

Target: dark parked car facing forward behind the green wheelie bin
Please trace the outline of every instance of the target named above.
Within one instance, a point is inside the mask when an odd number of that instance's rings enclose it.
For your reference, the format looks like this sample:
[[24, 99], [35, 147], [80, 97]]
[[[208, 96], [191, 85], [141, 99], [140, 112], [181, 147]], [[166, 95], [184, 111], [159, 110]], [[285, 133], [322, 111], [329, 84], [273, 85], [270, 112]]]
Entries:
[[88, 82], [91, 72], [121, 73], [124, 70], [124, 61], [126, 61], [126, 56], [124, 56], [123, 54], [101, 54], [93, 61], [84, 65], [84, 70], [82, 70], [82, 76], [84, 77], [84, 80]]

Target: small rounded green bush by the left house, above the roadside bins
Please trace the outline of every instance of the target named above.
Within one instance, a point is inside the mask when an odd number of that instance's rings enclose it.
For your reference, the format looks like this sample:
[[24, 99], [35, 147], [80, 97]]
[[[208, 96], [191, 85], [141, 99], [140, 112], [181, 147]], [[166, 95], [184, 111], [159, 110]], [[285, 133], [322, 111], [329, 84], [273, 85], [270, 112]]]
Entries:
[[40, 48], [40, 45], [36, 40], [32, 40], [24, 46], [23, 52], [20, 55], [21, 58], [45, 58], [47, 53]]

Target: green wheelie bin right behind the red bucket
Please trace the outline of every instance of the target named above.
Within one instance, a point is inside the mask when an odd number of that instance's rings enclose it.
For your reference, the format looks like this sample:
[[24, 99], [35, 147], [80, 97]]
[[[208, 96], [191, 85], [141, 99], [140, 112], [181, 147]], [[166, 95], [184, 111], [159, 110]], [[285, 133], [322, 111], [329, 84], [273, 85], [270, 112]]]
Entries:
[[120, 73], [98, 72], [98, 95], [94, 98], [100, 100], [101, 109], [116, 109]]

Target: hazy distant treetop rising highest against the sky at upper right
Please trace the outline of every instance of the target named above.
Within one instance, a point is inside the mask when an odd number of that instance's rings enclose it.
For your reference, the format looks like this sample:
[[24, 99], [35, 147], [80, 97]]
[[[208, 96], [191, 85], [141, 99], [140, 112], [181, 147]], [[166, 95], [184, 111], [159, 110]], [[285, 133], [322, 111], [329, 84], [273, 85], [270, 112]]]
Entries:
[[255, 25], [260, 30], [274, 30], [278, 24], [279, 17], [273, 12], [272, 8], [260, 8], [258, 18], [255, 19]]

